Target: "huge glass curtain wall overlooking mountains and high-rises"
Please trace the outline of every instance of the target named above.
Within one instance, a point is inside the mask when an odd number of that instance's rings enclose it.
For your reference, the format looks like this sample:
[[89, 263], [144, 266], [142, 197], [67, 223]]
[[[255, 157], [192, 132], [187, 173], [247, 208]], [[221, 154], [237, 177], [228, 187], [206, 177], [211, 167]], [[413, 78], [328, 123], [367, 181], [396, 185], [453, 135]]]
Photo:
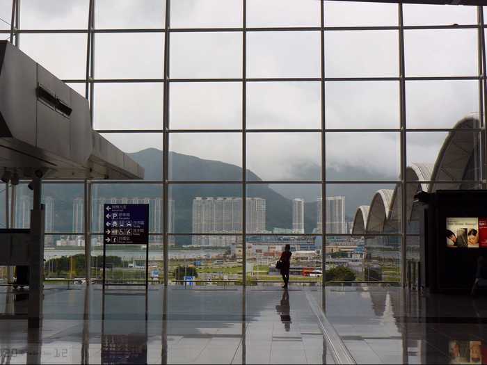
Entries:
[[[0, 17], [1, 38], [85, 95], [93, 127], [145, 167], [144, 181], [45, 185], [48, 243], [86, 249], [92, 276], [99, 205], [146, 202], [165, 282], [192, 267], [270, 278], [287, 243], [296, 267], [349, 259], [357, 279], [404, 282], [411, 193], [485, 188], [481, 7], [3, 0]], [[460, 167], [445, 157], [455, 147]], [[112, 268], [140, 264], [113, 255]]]

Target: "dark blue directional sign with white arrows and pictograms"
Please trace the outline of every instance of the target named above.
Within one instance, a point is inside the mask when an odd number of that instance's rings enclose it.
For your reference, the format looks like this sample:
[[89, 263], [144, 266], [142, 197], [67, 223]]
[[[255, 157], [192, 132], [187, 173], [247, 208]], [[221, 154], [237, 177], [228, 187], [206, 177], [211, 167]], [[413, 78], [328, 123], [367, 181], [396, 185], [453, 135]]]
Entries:
[[149, 204], [104, 204], [104, 227], [105, 245], [147, 245]]

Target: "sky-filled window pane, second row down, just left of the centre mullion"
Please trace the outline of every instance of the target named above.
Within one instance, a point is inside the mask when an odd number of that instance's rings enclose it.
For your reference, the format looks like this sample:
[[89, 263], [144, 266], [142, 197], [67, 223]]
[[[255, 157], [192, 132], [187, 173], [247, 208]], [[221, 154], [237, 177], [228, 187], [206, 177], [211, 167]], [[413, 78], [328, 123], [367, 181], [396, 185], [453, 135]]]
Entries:
[[172, 33], [171, 77], [241, 78], [242, 33]]

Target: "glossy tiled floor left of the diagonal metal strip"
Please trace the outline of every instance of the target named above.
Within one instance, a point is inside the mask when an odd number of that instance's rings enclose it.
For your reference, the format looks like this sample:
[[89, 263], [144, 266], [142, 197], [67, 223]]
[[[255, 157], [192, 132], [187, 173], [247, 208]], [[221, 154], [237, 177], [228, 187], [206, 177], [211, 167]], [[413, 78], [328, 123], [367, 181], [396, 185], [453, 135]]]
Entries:
[[[1, 290], [0, 312], [26, 313], [25, 295]], [[287, 298], [277, 288], [154, 287], [147, 302], [143, 293], [48, 288], [41, 330], [22, 317], [0, 319], [0, 364], [333, 362], [299, 289]]]

